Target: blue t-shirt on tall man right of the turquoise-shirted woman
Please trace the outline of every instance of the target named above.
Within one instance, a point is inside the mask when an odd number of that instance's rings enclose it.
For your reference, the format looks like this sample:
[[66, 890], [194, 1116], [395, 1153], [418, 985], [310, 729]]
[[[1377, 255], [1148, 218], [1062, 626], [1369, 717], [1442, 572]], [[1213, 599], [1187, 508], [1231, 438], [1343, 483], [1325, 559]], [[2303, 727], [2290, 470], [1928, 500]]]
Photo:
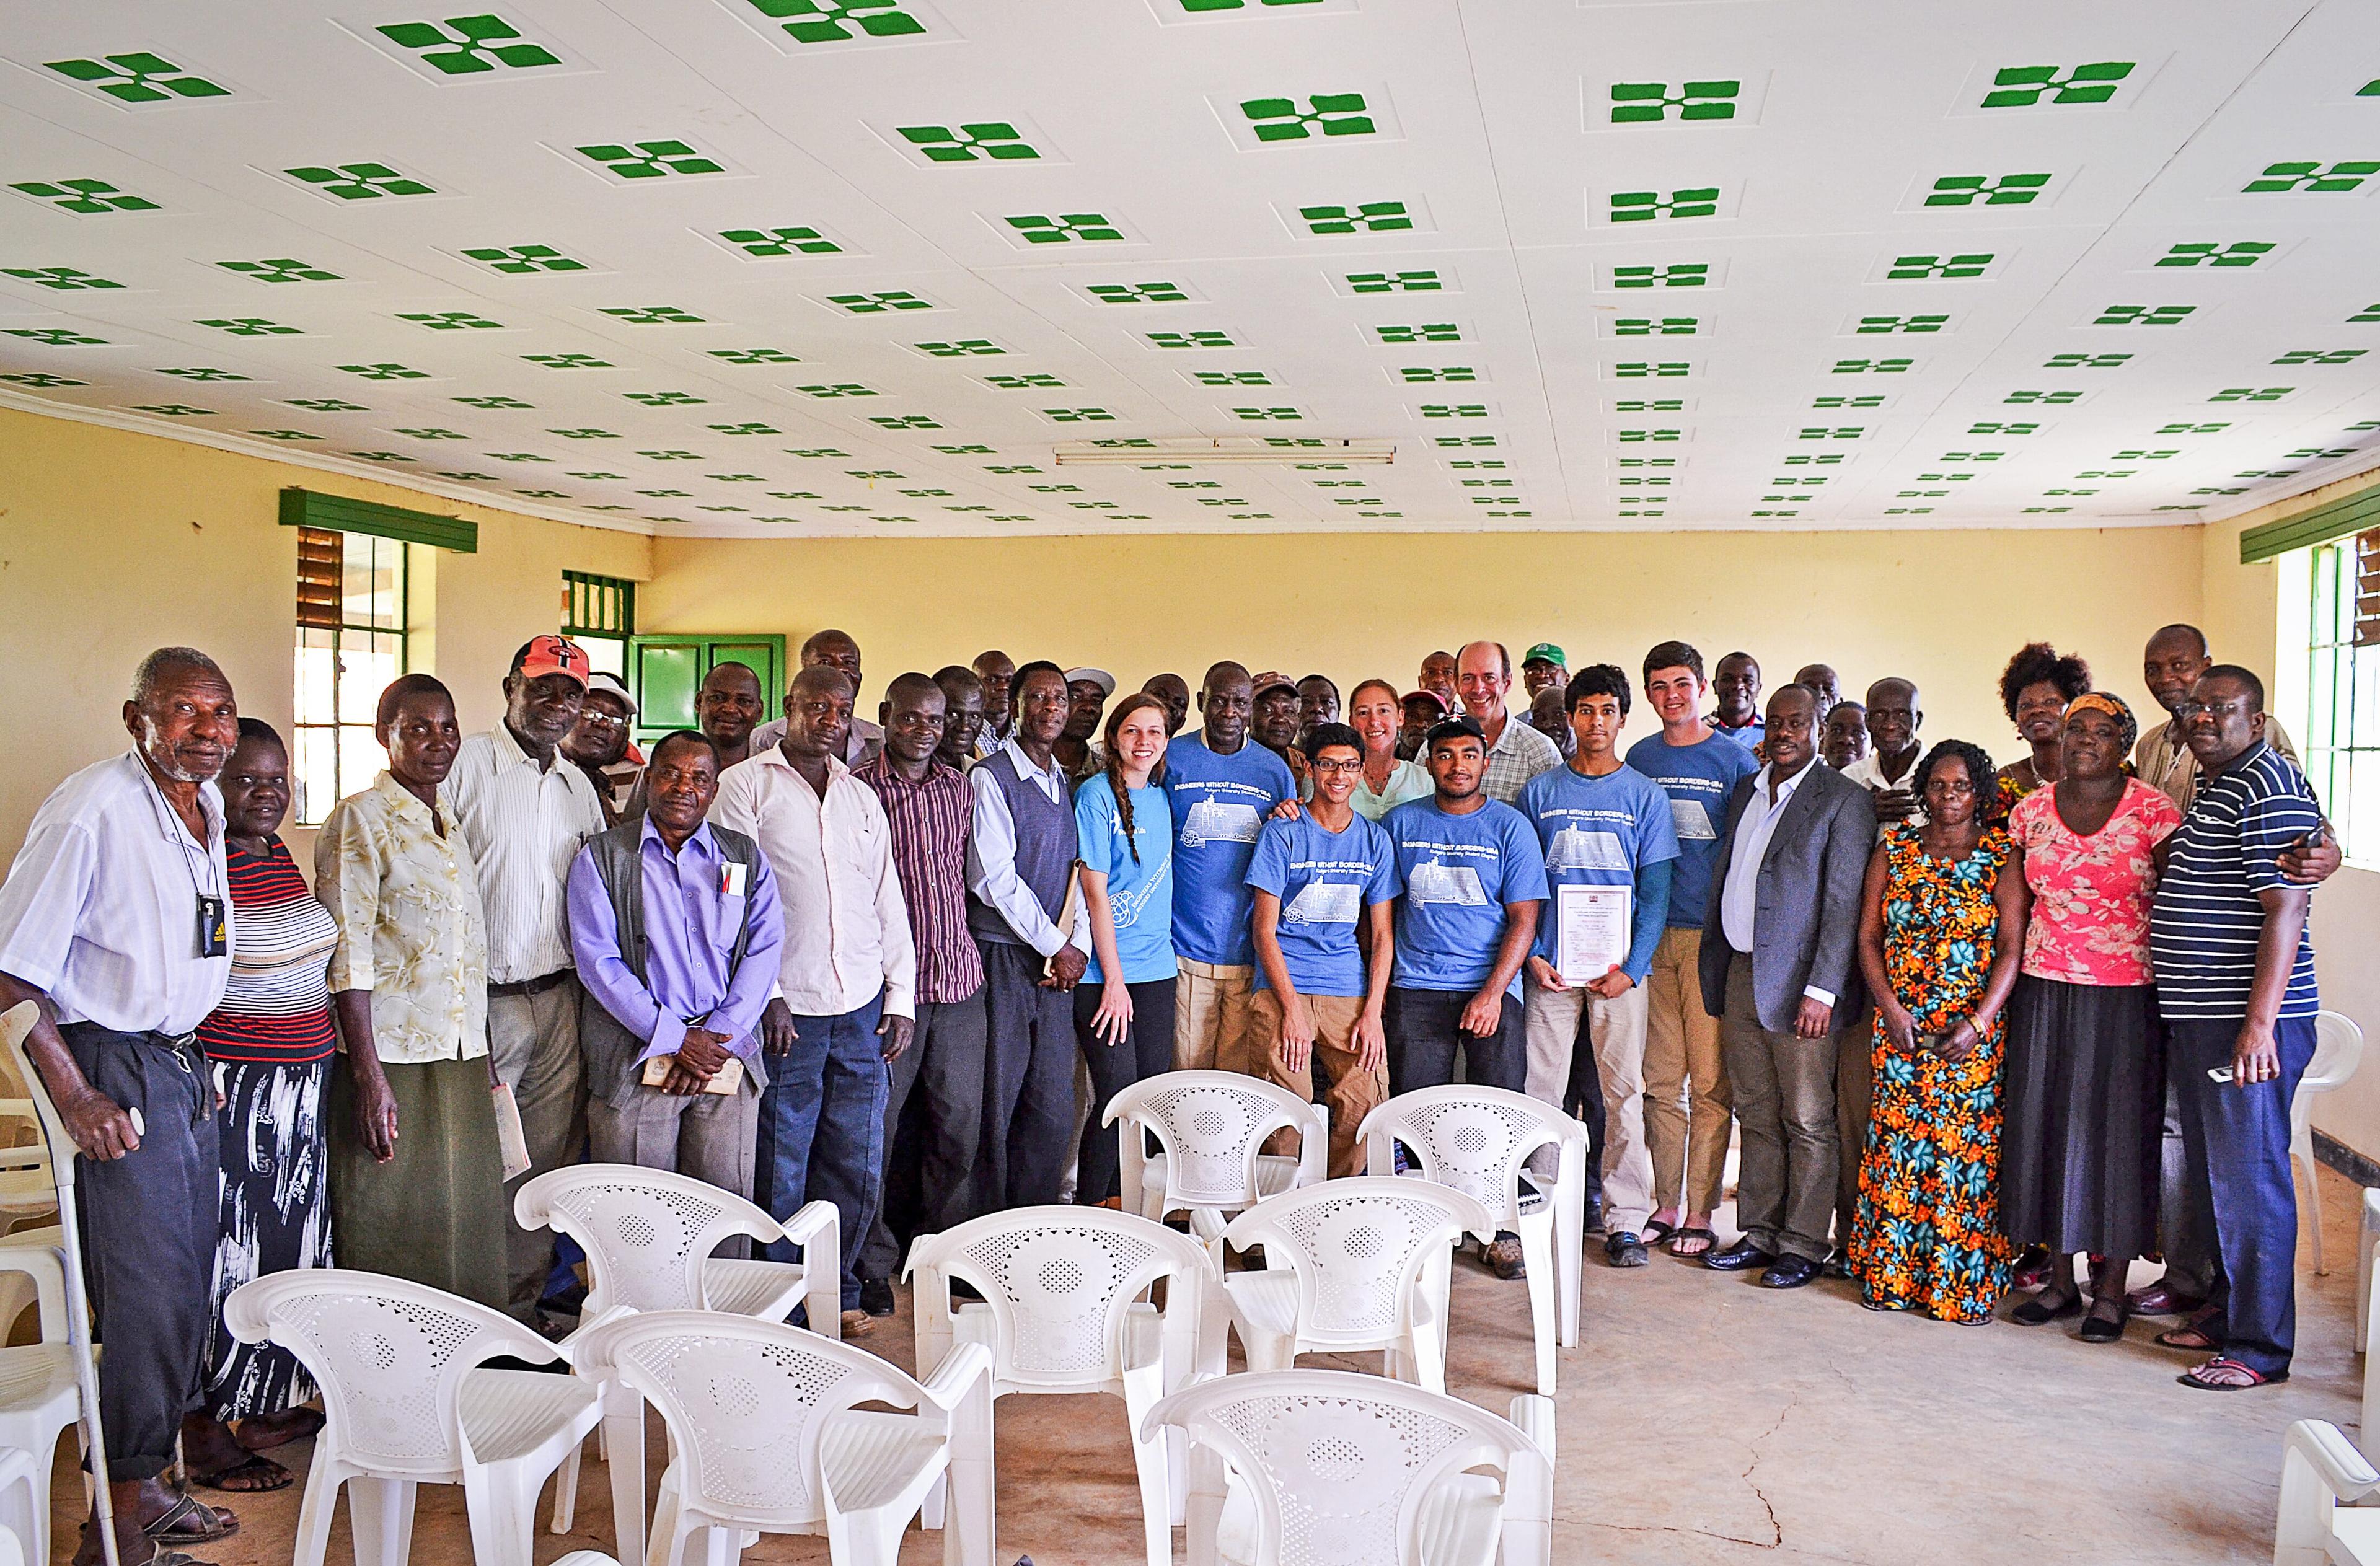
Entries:
[[1283, 800], [1297, 797], [1288, 764], [1254, 740], [1219, 757], [1202, 733], [1166, 745], [1166, 802], [1173, 807], [1173, 950], [1190, 961], [1254, 964], [1247, 921], [1257, 895], [1247, 862], [1257, 833]]

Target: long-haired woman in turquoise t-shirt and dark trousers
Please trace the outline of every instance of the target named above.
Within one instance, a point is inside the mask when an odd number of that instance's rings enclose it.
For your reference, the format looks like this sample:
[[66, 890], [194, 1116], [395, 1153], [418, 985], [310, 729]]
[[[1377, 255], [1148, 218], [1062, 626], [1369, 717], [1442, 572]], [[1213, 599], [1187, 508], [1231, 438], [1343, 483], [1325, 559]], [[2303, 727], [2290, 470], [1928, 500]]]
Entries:
[[1116, 1207], [1116, 1130], [1107, 1102], [1145, 1076], [1173, 1069], [1173, 812], [1166, 771], [1166, 704], [1123, 697], [1107, 716], [1107, 769], [1073, 793], [1083, 854], [1090, 966], [1073, 988], [1073, 1035], [1090, 1066], [1078, 1204]]

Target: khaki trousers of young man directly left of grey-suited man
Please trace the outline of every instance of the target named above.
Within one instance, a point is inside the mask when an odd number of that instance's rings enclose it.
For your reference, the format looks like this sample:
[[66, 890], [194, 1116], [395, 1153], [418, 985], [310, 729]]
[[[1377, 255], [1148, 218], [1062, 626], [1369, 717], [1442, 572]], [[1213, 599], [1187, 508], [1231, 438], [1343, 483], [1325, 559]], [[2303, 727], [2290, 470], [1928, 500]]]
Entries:
[[[1656, 1207], [1714, 1211], [1735, 1095], [1702, 1009], [1702, 931], [1666, 928], [1645, 978], [1645, 1142]], [[1604, 1088], [1609, 1092], [1609, 1088]]]

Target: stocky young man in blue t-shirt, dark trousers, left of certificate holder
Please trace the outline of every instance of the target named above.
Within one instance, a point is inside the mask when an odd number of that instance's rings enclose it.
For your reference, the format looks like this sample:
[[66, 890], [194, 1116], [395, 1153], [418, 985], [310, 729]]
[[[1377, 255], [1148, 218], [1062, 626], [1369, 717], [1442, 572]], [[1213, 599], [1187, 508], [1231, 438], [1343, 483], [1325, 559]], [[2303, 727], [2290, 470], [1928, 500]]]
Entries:
[[[1528, 819], [1480, 793], [1488, 738], [1478, 719], [1428, 733], [1438, 793], [1388, 812], [1397, 857], [1397, 961], [1388, 981], [1388, 1085], [1395, 1092], [1464, 1078], [1528, 1090], [1521, 1042], [1521, 961], [1537, 935], [1545, 854]], [[1497, 1235], [1485, 1259], [1499, 1278], [1521, 1276], [1521, 1240]]]

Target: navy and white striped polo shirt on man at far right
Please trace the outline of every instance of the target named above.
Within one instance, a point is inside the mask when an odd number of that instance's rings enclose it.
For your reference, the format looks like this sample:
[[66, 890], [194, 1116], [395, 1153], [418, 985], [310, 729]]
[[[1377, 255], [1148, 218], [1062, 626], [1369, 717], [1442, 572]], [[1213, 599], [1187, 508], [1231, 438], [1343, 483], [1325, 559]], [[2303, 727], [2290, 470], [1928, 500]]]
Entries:
[[[2323, 819], [2306, 773], [2259, 743], [2221, 773], [2199, 781], [2199, 797], [2166, 850], [2166, 876], [2149, 914], [2156, 1009], [2168, 1021], [2244, 1021], [2256, 978], [2263, 902], [2256, 892], [2290, 885], [2280, 852]], [[2313, 935], [2299, 931], [2282, 1016], [2313, 1016]]]

